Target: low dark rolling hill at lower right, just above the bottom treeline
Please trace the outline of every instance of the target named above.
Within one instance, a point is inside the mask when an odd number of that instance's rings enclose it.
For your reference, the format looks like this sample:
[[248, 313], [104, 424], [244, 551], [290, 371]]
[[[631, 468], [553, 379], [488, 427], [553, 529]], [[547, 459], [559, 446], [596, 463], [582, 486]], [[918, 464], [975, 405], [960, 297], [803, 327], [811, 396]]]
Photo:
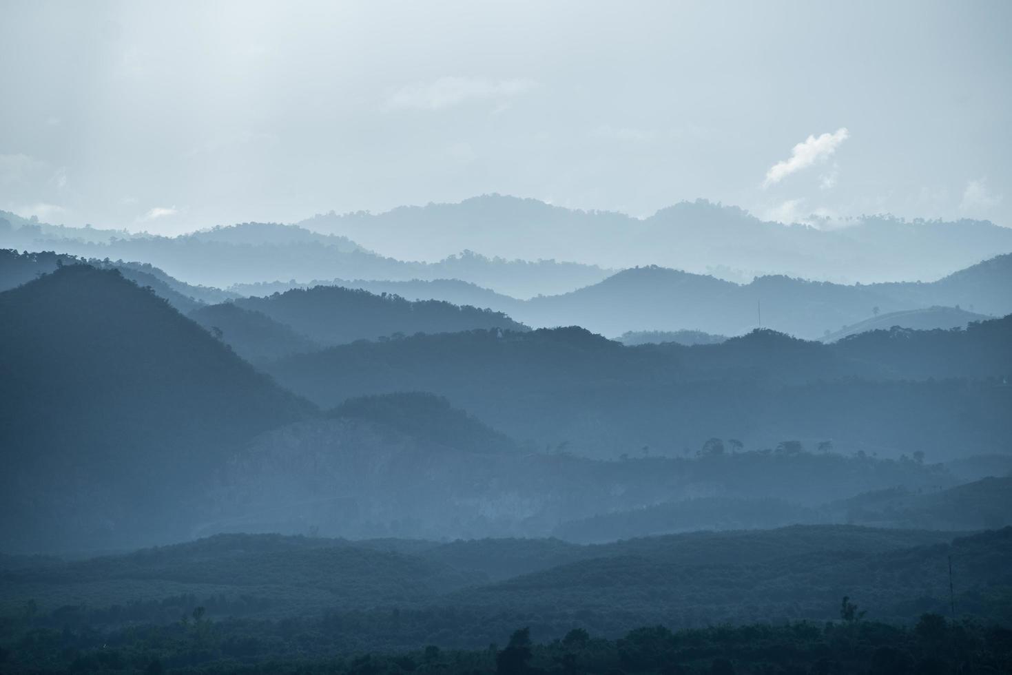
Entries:
[[[960, 580], [962, 590], [956, 602], [963, 611], [987, 604], [987, 589], [997, 592], [1012, 585], [1007, 566], [1012, 528], [958, 537], [948, 544], [925, 542], [893, 550], [874, 550], [866, 545], [866, 539], [860, 544], [833, 540], [832, 533], [845, 531], [842, 527], [791, 527], [748, 533], [739, 540], [732, 534], [714, 542], [732, 554], [724, 561], [707, 551], [713, 546], [708, 545], [706, 533], [641, 539], [640, 545], [626, 547], [625, 555], [561, 565], [450, 597], [466, 605], [542, 616], [559, 607], [571, 611], [579, 607], [587, 615], [636, 614], [641, 621], [650, 616], [653, 622], [689, 626], [746, 617], [754, 621], [831, 619], [839, 616], [843, 596], [858, 599], [871, 615], [884, 620], [944, 611], [949, 598], [949, 556]], [[794, 537], [818, 543], [792, 545]], [[777, 540], [784, 543], [783, 549], [767, 557], [759, 555]], [[666, 551], [674, 543], [706, 553], [694, 562], [694, 556], [669, 557]], [[1001, 601], [993, 609], [1004, 612]]]

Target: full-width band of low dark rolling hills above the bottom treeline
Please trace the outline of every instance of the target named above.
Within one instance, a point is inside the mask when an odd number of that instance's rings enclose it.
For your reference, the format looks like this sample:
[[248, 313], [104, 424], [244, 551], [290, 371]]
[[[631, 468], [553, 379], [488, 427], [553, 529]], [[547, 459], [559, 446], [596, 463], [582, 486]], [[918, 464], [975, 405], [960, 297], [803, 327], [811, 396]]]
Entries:
[[225, 535], [8, 569], [0, 572], [0, 607], [33, 598], [39, 622], [58, 631], [128, 621], [173, 626], [198, 604], [218, 629], [238, 617], [283, 625], [296, 614], [323, 614], [321, 627], [346, 647], [429, 640], [475, 647], [525, 620], [545, 640], [574, 626], [611, 636], [643, 624], [698, 628], [749, 617], [821, 625], [839, 619], [843, 596], [869, 619], [916, 620], [947, 608], [951, 557], [960, 615], [1002, 620], [1010, 539], [1009, 528], [952, 538], [849, 526], [604, 545]]

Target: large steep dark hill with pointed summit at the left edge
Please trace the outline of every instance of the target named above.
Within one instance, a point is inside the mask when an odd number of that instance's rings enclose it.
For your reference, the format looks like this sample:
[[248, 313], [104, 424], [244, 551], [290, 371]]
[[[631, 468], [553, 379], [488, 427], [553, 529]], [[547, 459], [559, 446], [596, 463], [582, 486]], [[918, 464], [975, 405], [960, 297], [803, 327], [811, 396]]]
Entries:
[[166, 526], [180, 517], [166, 500], [312, 410], [115, 270], [63, 266], [0, 293], [0, 532], [15, 547]]

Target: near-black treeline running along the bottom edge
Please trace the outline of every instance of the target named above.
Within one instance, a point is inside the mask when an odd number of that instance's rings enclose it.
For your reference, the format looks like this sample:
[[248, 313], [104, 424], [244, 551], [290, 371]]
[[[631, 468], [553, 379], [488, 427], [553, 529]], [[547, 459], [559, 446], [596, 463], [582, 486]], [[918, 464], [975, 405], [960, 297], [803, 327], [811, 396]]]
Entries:
[[[608, 639], [581, 627], [535, 644], [529, 627], [505, 629], [500, 645], [458, 650], [359, 651], [349, 627], [332, 617], [212, 621], [202, 606], [171, 625], [111, 632], [87, 627], [23, 628], [7, 636], [0, 667], [7, 673], [328, 673], [347, 675], [439, 672], [473, 675], [657, 673], [735, 675], [869, 673], [941, 675], [1003, 673], [1012, 664], [1012, 630], [925, 613], [913, 625], [863, 618], [850, 598], [840, 618], [825, 623], [719, 625], [672, 631], [643, 626]], [[401, 631], [417, 617], [389, 613]], [[521, 617], [510, 617], [513, 620]], [[522, 624], [522, 620], [521, 623]], [[508, 636], [508, 638], [507, 638]]]

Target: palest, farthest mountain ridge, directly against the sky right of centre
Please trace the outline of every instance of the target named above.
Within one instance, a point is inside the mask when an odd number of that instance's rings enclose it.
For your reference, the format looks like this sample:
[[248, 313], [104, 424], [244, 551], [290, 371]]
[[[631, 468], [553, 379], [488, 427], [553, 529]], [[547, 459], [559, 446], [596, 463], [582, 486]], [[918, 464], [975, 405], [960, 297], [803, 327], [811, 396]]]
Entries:
[[850, 219], [817, 229], [762, 221], [735, 206], [682, 201], [648, 218], [583, 212], [485, 194], [383, 214], [333, 212], [301, 221], [387, 255], [439, 260], [468, 248], [507, 258], [567, 259], [602, 267], [657, 264], [746, 280], [787, 274], [844, 282], [936, 279], [1012, 252], [1012, 229], [982, 221]]

